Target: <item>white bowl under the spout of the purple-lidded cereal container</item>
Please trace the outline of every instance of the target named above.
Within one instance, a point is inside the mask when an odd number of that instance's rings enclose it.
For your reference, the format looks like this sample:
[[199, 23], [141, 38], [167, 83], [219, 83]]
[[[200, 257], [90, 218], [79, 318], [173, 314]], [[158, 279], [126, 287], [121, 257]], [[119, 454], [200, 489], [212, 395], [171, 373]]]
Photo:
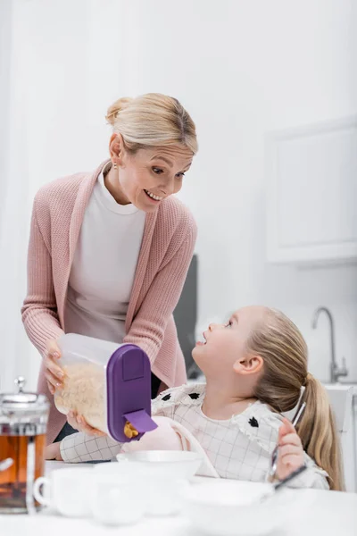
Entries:
[[180, 450], [141, 450], [118, 454], [116, 458], [120, 465], [130, 465], [130, 473], [166, 480], [189, 479], [203, 462], [199, 454]]

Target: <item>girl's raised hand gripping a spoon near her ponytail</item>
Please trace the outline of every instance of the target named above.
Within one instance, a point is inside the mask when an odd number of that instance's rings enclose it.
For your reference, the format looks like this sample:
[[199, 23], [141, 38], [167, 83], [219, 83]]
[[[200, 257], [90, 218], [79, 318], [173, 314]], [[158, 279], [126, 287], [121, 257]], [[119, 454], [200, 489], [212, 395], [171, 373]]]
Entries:
[[277, 477], [283, 480], [304, 464], [303, 445], [295, 428], [287, 419], [278, 431]]

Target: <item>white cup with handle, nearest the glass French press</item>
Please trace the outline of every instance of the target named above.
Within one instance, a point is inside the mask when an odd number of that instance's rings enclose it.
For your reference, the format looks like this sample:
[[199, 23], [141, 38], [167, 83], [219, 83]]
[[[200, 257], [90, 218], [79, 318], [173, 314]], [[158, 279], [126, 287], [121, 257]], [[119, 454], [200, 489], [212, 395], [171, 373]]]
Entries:
[[91, 515], [93, 474], [92, 467], [56, 469], [48, 478], [37, 478], [34, 483], [34, 497], [41, 505], [55, 508], [67, 517], [87, 517]]

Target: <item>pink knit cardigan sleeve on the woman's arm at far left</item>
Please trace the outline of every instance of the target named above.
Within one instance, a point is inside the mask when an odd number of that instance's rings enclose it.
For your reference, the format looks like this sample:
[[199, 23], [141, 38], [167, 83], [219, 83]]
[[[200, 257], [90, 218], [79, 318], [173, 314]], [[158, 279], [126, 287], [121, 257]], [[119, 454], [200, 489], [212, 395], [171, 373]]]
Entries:
[[30, 341], [44, 355], [46, 341], [58, 339], [63, 331], [54, 295], [50, 247], [37, 222], [37, 198], [33, 205], [29, 234], [28, 292], [21, 314]]

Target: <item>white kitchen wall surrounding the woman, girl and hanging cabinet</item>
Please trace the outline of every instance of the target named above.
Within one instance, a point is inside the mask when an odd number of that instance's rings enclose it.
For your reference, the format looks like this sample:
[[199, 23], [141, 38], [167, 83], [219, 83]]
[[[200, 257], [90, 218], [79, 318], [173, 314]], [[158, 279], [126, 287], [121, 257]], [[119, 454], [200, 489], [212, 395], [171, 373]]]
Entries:
[[337, 356], [345, 355], [357, 380], [356, 266], [296, 270], [265, 262], [263, 143], [267, 130], [356, 113], [357, 4], [12, 5], [12, 166], [0, 228], [5, 384], [24, 372], [33, 386], [39, 363], [18, 315], [31, 199], [48, 180], [95, 167], [106, 156], [107, 105], [146, 91], [177, 96], [197, 124], [200, 152], [180, 197], [200, 230], [199, 323], [251, 303], [281, 307], [309, 342], [312, 372], [326, 378], [327, 324], [321, 318], [316, 332], [310, 325], [316, 306], [330, 306]]

